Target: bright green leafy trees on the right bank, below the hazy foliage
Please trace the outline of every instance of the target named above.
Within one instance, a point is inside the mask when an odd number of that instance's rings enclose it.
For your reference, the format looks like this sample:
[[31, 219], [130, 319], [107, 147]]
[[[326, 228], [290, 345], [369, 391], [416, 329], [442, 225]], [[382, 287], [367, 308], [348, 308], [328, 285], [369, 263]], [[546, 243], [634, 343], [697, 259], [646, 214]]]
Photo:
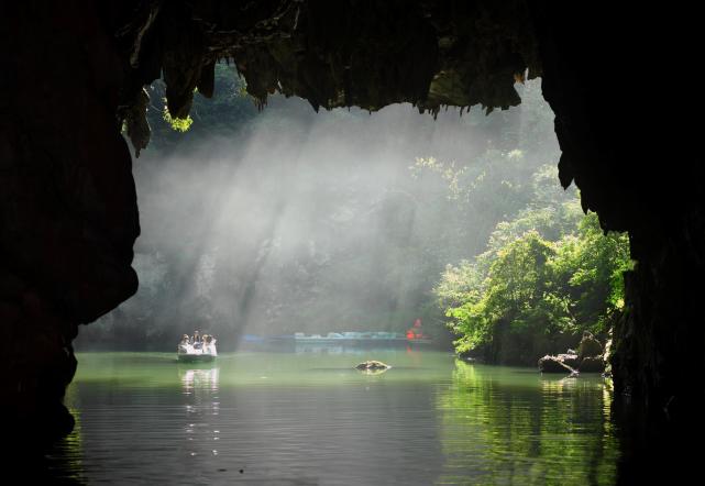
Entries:
[[561, 338], [608, 331], [624, 303], [628, 241], [603, 235], [594, 213], [577, 221], [575, 206], [522, 210], [497, 224], [487, 252], [445, 269], [436, 295], [459, 335], [456, 351], [530, 363], [564, 351], [555, 349]]

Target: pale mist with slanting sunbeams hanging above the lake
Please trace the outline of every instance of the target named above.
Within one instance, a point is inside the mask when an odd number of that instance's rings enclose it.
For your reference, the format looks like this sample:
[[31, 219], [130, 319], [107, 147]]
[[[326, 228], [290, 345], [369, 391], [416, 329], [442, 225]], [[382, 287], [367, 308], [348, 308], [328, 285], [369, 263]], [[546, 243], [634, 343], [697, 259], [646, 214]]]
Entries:
[[[538, 86], [518, 89], [530, 98], [521, 107], [437, 119], [408, 104], [316, 113], [275, 97], [228, 133], [147, 150], [133, 167], [140, 289], [82, 329], [77, 346], [172, 349], [200, 329], [234, 349], [243, 334], [404, 331], [417, 318], [441, 338], [431, 294], [440, 273], [481, 253], [511, 209], [500, 191], [460, 205], [443, 172], [417, 161], [478, 180], [555, 166], [551, 118], [527, 115], [527, 104], [543, 103]], [[527, 131], [521, 165], [477, 162], [502, 158]]]

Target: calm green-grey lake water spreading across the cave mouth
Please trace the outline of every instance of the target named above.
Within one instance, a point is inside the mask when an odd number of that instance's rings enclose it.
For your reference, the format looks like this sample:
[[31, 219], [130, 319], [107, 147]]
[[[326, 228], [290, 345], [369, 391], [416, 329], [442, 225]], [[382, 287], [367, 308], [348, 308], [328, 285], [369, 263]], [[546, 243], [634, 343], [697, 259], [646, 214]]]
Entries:
[[[376, 358], [379, 376], [353, 369]], [[85, 484], [613, 484], [602, 377], [438, 352], [80, 354], [55, 477]]]

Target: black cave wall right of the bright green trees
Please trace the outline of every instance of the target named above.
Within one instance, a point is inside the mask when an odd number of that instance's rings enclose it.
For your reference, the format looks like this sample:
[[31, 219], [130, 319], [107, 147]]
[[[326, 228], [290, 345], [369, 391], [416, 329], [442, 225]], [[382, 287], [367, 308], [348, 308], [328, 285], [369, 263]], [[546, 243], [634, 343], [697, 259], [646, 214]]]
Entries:
[[697, 56], [690, 15], [657, 5], [533, 10], [561, 183], [577, 185], [605, 230], [629, 232], [637, 262], [612, 364], [620, 426], [650, 457], [627, 457], [626, 477], [653, 479], [657, 465], [690, 457], [685, 441], [704, 429], [704, 174], [692, 123], [702, 102], [686, 84], [686, 59]]

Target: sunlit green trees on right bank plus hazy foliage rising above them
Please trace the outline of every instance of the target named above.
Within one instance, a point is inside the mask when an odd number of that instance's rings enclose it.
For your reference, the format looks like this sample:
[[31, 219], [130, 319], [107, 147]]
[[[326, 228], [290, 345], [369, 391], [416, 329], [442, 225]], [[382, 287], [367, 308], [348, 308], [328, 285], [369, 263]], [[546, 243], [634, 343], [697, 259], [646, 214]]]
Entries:
[[444, 184], [470, 232], [484, 238], [434, 287], [456, 351], [529, 364], [574, 346], [583, 330], [607, 332], [631, 262], [627, 236], [603, 235], [576, 190], [560, 190], [550, 108], [538, 86], [519, 92], [522, 115], [506, 119], [484, 153], [462, 164], [417, 158], [411, 172]]

